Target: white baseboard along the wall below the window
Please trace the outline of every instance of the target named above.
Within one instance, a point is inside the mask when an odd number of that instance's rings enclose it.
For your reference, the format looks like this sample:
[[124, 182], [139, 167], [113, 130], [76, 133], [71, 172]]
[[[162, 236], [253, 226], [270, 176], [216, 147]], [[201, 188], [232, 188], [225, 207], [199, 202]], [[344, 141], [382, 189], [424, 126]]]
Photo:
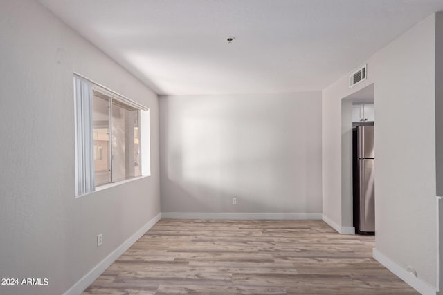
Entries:
[[117, 249], [111, 252], [105, 259], [103, 259], [98, 265], [93, 267], [87, 274], [85, 274], [77, 283], [75, 283], [68, 291], [64, 292], [64, 295], [78, 295], [81, 294], [84, 289], [89, 287], [93, 283], [96, 278], [105, 272], [105, 269], [109, 267], [114, 261], [120, 257], [129, 247], [131, 247], [134, 242], [136, 242], [141, 236], [143, 236], [146, 231], [148, 231], [151, 227], [153, 227], [157, 221], [160, 220], [160, 213], [157, 214], [154, 218], [148, 221], [141, 229], [138, 229], [132, 236], [130, 236], [122, 245], [120, 245]]

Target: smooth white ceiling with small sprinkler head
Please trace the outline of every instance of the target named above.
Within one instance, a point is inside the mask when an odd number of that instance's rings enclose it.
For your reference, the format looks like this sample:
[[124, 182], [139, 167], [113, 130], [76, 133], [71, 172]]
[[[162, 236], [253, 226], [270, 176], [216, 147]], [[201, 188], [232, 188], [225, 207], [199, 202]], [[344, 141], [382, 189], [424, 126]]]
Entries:
[[40, 2], [156, 93], [176, 95], [322, 90], [443, 10], [443, 0]]

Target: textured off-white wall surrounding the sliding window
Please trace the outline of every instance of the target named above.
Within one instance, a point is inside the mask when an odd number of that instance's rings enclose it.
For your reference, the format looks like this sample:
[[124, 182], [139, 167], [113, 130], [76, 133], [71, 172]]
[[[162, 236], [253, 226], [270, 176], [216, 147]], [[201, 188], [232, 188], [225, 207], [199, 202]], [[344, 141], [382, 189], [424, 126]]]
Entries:
[[[37, 1], [1, 1], [0, 44], [0, 278], [49, 280], [0, 294], [62, 294], [160, 211], [158, 99]], [[74, 71], [150, 108], [150, 177], [75, 198]]]

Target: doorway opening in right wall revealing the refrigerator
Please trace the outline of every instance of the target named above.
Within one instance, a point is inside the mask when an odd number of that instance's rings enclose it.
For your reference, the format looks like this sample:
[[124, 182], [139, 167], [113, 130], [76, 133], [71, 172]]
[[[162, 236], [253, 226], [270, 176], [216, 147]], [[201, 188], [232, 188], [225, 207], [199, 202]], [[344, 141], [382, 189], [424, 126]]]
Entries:
[[341, 221], [357, 234], [375, 231], [374, 124], [374, 84], [341, 100]]

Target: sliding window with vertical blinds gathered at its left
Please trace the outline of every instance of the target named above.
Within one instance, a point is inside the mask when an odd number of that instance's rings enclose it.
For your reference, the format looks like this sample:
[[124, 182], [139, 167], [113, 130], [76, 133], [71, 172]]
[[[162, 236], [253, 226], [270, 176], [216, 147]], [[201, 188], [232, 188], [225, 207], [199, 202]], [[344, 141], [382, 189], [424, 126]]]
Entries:
[[140, 123], [147, 108], [77, 75], [74, 84], [76, 196], [141, 176]]

